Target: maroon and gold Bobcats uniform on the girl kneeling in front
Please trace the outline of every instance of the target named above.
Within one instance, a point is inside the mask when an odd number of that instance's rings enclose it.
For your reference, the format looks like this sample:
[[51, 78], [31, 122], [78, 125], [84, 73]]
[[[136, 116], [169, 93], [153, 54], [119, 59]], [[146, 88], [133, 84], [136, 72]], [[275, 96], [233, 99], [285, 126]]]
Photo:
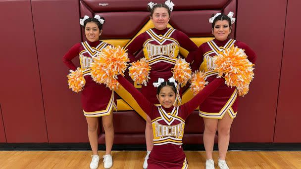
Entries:
[[148, 169], [187, 169], [188, 163], [182, 148], [185, 120], [210, 93], [225, 82], [224, 79], [214, 80], [189, 102], [170, 108], [153, 105], [125, 78], [118, 76], [118, 82], [151, 118], [154, 146], [148, 159]]

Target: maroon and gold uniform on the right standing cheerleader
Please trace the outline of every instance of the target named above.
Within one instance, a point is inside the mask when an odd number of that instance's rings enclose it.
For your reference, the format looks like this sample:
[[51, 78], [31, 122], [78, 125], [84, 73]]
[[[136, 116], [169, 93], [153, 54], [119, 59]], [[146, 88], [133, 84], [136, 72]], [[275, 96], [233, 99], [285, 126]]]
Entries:
[[[243, 42], [232, 39], [218, 41], [216, 39], [201, 44], [198, 49], [193, 67], [200, 67], [201, 71], [206, 74], [206, 81], [212, 82], [216, 79], [217, 72], [213, 70], [213, 56], [217, 55], [218, 51], [224, 51], [232, 45], [245, 50], [248, 59], [254, 63], [256, 54], [253, 50]], [[201, 66], [200, 66], [201, 65]], [[228, 87], [226, 84], [220, 85], [212, 94], [210, 94], [200, 105], [199, 115], [204, 118], [222, 119], [228, 112], [233, 119], [236, 117], [238, 107], [238, 91], [235, 87]]]

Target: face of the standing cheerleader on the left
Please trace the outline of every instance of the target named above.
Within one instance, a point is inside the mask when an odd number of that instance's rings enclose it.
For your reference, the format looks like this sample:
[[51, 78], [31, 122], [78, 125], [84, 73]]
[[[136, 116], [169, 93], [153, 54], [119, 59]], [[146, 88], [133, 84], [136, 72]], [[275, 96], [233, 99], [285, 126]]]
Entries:
[[88, 22], [85, 26], [85, 35], [88, 41], [99, 41], [102, 30], [99, 29], [96, 23]]

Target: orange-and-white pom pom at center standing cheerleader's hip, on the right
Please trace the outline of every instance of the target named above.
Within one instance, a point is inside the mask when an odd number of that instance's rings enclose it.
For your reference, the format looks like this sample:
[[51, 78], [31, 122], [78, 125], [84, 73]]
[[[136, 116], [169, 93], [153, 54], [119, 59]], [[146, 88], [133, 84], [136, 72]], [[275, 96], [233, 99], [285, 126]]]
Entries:
[[191, 68], [185, 59], [178, 58], [174, 68], [172, 68], [173, 77], [180, 85], [185, 85], [191, 79]]

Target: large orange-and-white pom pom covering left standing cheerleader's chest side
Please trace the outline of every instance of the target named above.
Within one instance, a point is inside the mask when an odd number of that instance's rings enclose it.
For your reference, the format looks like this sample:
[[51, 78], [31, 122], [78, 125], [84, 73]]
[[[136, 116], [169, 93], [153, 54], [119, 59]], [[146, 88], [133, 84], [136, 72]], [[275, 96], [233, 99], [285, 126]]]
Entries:
[[91, 64], [91, 77], [96, 83], [105, 84], [111, 90], [118, 88], [117, 75], [124, 76], [129, 61], [123, 47], [107, 45]]

